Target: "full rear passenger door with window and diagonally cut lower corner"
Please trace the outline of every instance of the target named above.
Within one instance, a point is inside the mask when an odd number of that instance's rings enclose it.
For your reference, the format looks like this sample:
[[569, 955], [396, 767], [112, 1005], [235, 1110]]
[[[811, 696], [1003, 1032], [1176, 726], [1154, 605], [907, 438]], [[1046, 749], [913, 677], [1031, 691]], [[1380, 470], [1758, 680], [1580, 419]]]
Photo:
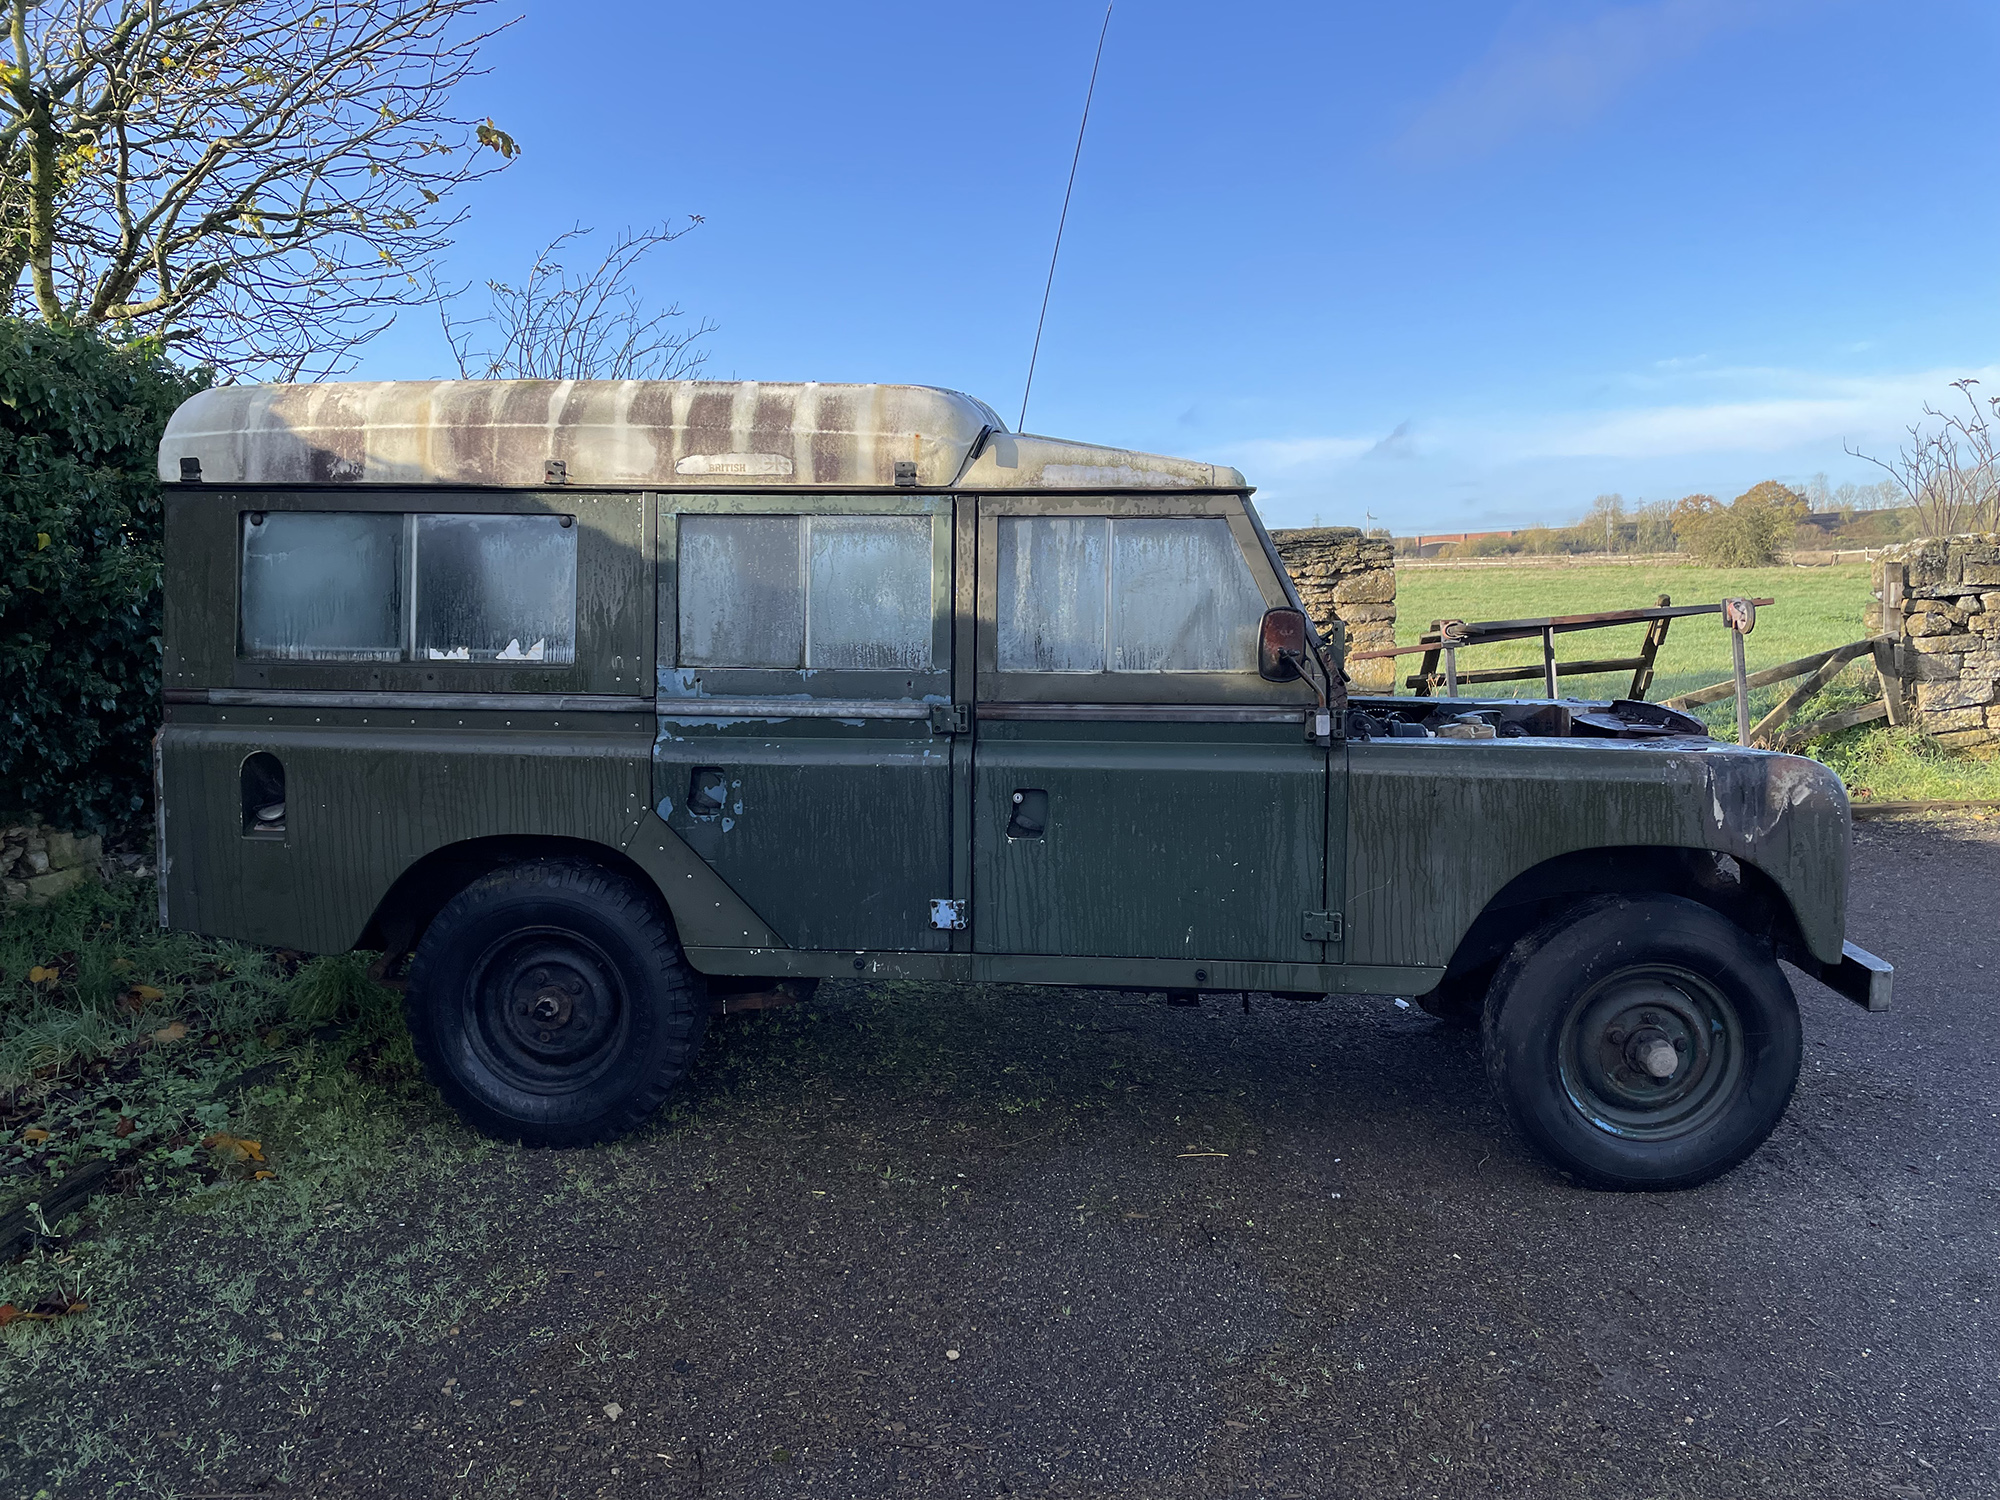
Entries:
[[658, 548], [658, 816], [794, 948], [950, 948], [950, 498], [662, 496]]

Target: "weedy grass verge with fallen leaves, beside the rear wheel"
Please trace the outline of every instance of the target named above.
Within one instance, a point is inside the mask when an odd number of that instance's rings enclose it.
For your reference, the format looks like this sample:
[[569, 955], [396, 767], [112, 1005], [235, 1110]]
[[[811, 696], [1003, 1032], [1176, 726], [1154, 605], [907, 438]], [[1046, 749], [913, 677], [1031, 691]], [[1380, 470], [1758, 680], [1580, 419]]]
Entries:
[[162, 934], [138, 882], [0, 922], [0, 1208], [114, 1162], [82, 1218], [0, 1264], [0, 1306], [68, 1310], [0, 1318], [0, 1490], [206, 1478], [238, 1456], [162, 1446], [130, 1406], [148, 1376], [312, 1410], [356, 1354], [534, 1282], [494, 1256], [520, 1158], [418, 1082], [364, 964]]

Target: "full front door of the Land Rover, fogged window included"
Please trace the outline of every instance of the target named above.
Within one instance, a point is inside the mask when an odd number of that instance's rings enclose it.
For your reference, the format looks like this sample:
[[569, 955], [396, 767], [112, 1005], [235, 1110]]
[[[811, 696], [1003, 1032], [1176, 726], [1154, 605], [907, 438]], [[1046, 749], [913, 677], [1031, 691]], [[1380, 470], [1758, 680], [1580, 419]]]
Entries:
[[1338, 962], [1334, 752], [1256, 674], [1286, 602], [1242, 496], [980, 502], [978, 952]]

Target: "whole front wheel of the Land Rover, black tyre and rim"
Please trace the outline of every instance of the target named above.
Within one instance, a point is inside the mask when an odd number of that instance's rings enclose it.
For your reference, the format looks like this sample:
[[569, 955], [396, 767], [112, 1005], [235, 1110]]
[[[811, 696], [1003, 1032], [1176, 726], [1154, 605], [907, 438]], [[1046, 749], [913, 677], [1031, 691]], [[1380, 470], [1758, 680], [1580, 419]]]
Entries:
[[1602, 896], [1514, 944], [1484, 1016], [1514, 1128], [1598, 1188], [1692, 1188], [1754, 1152], [1798, 1082], [1770, 948], [1680, 896]]

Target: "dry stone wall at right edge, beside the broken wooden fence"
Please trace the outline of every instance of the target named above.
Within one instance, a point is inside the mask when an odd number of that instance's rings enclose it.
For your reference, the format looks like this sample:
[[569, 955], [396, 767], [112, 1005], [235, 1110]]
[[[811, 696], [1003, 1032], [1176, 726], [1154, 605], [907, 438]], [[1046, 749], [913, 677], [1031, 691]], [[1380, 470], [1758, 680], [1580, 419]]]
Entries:
[[1912, 722], [1954, 750], [2000, 750], [2000, 532], [1884, 548], [1870, 614], [1898, 642]]

